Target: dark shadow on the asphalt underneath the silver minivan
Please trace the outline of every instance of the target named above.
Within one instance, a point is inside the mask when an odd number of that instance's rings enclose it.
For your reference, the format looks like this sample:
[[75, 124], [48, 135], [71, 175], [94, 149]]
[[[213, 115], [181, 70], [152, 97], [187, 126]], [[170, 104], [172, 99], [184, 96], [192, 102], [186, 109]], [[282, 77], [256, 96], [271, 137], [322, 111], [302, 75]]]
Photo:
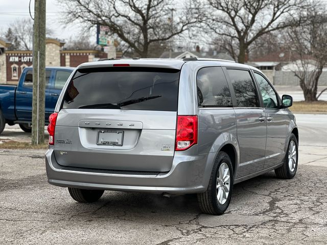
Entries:
[[[253, 191], [247, 191], [247, 188], [254, 190], [254, 192], [258, 189], [258, 192], [260, 192], [263, 189], [269, 189], [273, 183], [278, 181], [281, 180], [277, 179], [273, 171], [271, 171], [265, 175], [236, 184], [227, 212], [240, 210], [242, 206], [246, 209], [251, 208], [250, 203], [253, 202]], [[246, 207], [246, 205], [250, 207]], [[78, 209], [82, 215], [89, 216], [90, 218], [124, 218], [137, 220], [138, 222], [142, 221], [142, 219], [151, 220], [158, 216], [161, 216], [161, 218], [165, 217], [166, 220], [172, 222], [173, 220], [178, 220], [176, 217], [194, 217], [201, 213], [197, 204], [196, 194], [166, 198], [158, 194], [116, 191], [105, 191], [103, 197], [96, 203], [82, 204], [73, 202], [66, 209], [65, 213]], [[92, 211], [85, 212], [85, 210]]]

